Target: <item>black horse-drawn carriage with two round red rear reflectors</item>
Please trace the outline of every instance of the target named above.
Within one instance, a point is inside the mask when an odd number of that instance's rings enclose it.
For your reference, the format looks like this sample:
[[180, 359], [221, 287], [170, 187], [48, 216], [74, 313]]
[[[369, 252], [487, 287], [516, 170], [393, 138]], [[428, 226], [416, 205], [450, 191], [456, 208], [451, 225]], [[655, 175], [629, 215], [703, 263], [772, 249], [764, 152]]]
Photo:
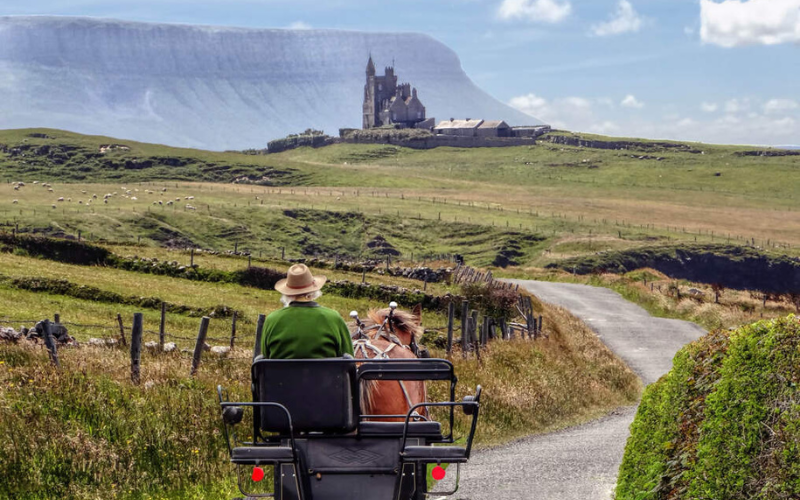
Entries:
[[[372, 359], [272, 360], [257, 355], [251, 367], [252, 402], [228, 402], [218, 387], [225, 438], [243, 494], [274, 494], [285, 500], [419, 500], [433, 495], [429, 469], [435, 465], [433, 478], [442, 479], [442, 464], [454, 465], [447, 474], [455, 478], [448, 483], [449, 492], [435, 495], [455, 493], [459, 467], [472, 449], [481, 388], [456, 401], [457, 379], [449, 361], [385, 355], [378, 336], [394, 329], [393, 314], [394, 307], [375, 335], [354, 340], [356, 346], [377, 343], [383, 356], [373, 352], [375, 357], [365, 356]], [[356, 321], [359, 337], [364, 329]], [[448, 400], [409, 399], [404, 386], [426, 381], [447, 384]], [[402, 412], [376, 414], [380, 405], [374, 402], [364, 411], [368, 405], [363, 400], [369, 398], [365, 387], [379, 385], [403, 388]], [[245, 409], [250, 410], [247, 415]], [[444, 425], [429, 417], [436, 413], [432, 409], [444, 412]], [[471, 417], [461, 438], [453, 432], [457, 409]], [[252, 426], [238, 425], [245, 417]], [[238, 427], [245, 425], [247, 437], [240, 439]], [[271, 477], [265, 476], [264, 467], [272, 468]]]

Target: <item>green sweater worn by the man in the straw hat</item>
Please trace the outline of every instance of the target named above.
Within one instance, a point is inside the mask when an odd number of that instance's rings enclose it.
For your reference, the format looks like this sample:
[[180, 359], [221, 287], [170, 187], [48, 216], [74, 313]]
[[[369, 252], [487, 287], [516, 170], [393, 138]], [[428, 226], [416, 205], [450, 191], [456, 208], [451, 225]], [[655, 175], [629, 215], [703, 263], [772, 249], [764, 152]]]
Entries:
[[338, 312], [293, 302], [267, 316], [261, 354], [268, 359], [338, 358], [353, 354], [350, 330]]

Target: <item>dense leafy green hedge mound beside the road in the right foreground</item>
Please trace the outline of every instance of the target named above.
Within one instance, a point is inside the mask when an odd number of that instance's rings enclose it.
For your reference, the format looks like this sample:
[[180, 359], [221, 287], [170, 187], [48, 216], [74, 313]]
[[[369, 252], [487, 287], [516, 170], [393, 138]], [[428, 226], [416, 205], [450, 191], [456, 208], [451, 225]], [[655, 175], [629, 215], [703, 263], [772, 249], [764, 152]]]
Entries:
[[717, 331], [642, 398], [618, 500], [800, 496], [800, 322]]

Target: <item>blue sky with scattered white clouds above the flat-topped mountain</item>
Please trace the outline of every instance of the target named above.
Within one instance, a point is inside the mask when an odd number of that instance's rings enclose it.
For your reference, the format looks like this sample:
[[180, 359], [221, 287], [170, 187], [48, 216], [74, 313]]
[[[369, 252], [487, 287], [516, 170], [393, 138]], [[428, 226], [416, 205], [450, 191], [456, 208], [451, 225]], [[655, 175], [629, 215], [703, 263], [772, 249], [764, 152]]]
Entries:
[[0, 0], [0, 15], [422, 32], [559, 129], [800, 144], [800, 0]]

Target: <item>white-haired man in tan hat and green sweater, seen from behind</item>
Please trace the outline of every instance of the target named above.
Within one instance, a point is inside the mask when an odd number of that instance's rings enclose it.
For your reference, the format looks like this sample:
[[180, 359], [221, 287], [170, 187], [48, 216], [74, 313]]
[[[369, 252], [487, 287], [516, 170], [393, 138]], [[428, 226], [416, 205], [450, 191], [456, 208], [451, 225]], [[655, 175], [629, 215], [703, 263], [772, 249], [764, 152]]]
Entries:
[[286, 279], [275, 284], [283, 309], [267, 316], [261, 335], [261, 354], [267, 359], [338, 358], [353, 355], [350, 330], [338, 312], [315, 302], [322, 296], [325, 276], [313, 276], [295, 264]]

